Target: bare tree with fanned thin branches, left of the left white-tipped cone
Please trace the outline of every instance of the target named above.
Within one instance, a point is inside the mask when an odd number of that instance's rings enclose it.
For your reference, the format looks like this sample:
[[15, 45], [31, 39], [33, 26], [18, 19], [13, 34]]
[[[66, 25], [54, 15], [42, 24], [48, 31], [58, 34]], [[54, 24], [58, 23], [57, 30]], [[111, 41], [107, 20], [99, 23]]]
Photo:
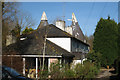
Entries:
[[24, 12], [20, 12], [15, 16], [15, 27], [12, 30], [12, 35], [16, 36], [17, 40], [19, 41], [22, 31], [26, 27], [34, 27], [35, 24], [35, 20], [33, 20], [33, 18], [29, 14], [24, 14]]

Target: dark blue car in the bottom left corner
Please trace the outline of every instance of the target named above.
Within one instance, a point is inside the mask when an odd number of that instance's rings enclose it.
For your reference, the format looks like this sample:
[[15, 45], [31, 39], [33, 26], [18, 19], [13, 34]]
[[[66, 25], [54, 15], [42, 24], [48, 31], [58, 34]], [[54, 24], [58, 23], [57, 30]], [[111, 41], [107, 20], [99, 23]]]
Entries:
[[22, 76], [13, 68], [2, 66], [2, 80], [34, 80], [34, 79]]

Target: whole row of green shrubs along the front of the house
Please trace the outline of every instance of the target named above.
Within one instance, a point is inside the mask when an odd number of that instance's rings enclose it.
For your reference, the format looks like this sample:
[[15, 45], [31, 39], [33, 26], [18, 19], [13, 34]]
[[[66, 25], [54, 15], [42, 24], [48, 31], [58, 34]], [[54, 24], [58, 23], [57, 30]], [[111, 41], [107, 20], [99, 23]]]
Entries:
[[[79, 78], [84, 80], [85, 78], [94, 78], [94, 76], [99, 72], [99, 69], [91, 62], [87, 61], [84, 64], [76, 64], [74, 68], [70, 68], [68, 64], [60, 65], [52, 64], [50, 67], [50, 72], [40, 73], [41, 79], [47, 79], [48, 76], [51, 76], [51, 79], [70, 79], [70, 78]], [[43, 73], [45, 73], [43, 75]], [[43, 76], [43, 77], [42, 77]]]

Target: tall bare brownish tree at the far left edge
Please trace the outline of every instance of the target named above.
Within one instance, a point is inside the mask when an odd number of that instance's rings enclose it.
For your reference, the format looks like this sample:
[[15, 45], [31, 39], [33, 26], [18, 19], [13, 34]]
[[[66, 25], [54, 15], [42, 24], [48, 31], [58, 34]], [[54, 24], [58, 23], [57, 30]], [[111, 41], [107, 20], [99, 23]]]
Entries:
[[2, 45], [3, 48], [6, 44], [6, 36], [10, 33], [13, 28], [15, 21], [15, 14], [18, 5], [15, 2], [2, 2]]

